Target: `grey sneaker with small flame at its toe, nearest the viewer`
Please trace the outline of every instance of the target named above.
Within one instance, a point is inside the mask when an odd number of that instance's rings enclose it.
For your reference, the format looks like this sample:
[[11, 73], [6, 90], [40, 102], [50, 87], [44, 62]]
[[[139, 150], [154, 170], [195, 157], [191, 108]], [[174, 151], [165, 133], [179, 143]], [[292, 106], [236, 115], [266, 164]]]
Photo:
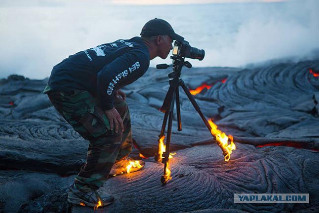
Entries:
[[[92, 192], [82, 192], [78, 190], [74, 184], [70, 187], [68, 194], [68, 202], [70, 204], [89, 206], [89, 207], [105, 207], [114, 201], [114, 197], [109, 194], [99, 194], [96, 190]], [[99, 203], [100, 202], [100, 203]]]

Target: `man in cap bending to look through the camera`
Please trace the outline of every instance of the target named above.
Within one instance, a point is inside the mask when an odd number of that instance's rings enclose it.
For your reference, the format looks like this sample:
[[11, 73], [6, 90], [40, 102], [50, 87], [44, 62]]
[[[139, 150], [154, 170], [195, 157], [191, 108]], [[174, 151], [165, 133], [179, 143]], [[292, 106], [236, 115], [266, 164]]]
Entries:
[[[150, 60], [166, 58], [173, 40], [184, 38], [165, 20], [148, 21], [141, 37], [90, 48], [53, 67], [44, 89], [53, 106], [84, 139], [90, 141], [87, 160], [70, 187], [68, 202], [107, 206], [114, 198], [99, 195], [107, 177], [125, 173], [133, 159], [130, 114], [120, 88], [133, 83]], [[121, 97], [120, 97], [121, 96]], [[133, 171], [143, 168], [140, 160]]]

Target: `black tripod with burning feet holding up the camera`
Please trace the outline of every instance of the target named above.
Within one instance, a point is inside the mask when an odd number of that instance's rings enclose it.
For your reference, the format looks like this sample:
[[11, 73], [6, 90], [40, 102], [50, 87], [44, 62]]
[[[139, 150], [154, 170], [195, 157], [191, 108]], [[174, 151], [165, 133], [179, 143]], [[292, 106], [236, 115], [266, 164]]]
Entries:
[[[206, 120], [205, 116], [201, 112], [198, 104], [196, 103], [194, 97], [191, 95], [188, 87], [184, 83], [182, 79], [180, 79], [180, 73], [181, 73], [181, 68], [183, 66], [186, 66], [187, 68], [191, 68], [192, 65], [188, 61], [184, 61], [183, 57], [178, 57], [178, 56], [171, 56], [171, 59], [173, 59], [173, 72], [168, 74], [169, 78], [172, 78], [169, 80], [169, 89], [166, 93], [165, 99], [163, 101], [162, 106], [160, 107], [160, 111], [165, 113], [159, 139], [164, 136], [165, 134], [165, 128], [166, 128], [166, 122], [168, 118], [168, 127], [167, 127], [167, 137], [166, 137], [166, 149], [165, 152], [162, 154], [162, 159], [161, 162], [164, 164], [164, 174], [161, 177], [160, 181], [162, 182], [163, 185], [167, 183], [167, 178], [166, 178], [166, 167], [168, 163], [168, 157], [169, 157], [169, 145], [170, 145], [170, 136], [171, 136], [171, 127], [172, 127], [172, 121], [173, 121], [173, 112], [174, 112], [174, 101], [176, 99], [176, 111], [177, 111], [177, 130], [181, 131], [181, 120], [180, 120], [180, 105], [179, 105], [179, 86], [181, 86], [186, 93], [188, 99], [198, 112], [199, 116], [207, 126], [208, 130], [211, 130], [211, 127]], [[166, 69], [170, 65], [167, 64], [159, 64], [157, 65], [158, 69]], [[227, 151], [223, 150], [223, 154], [226, 155]], [[158, 159], [160, 160], [160, 159]]]

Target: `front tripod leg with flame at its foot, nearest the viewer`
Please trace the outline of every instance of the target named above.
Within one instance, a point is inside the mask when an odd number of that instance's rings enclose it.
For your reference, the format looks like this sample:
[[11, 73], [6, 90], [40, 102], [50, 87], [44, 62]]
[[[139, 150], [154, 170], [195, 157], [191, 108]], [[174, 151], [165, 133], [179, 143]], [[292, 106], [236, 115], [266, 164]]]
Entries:
[[166, 184], [168, 180], [170, 180], [170, 174], [167, 174], [166, 170], [168, 169], [168, 157], [169, 157], [169, 145], [170, 145], [170, 136], [171, 136], [171, 127], [173, 122], [173, 113], [174, 113], [174, 101], [175, 101], [175, 92], [173, 93], [173, 97], [171, 99], [169, 114], [168, 114], [168, 127], [167, 127], [167, 137], [166, 137], [166, 148], [163, 153], [162, 163], [164, 163], [164, 173], [161, 177], [160, 181], [162, 184]]

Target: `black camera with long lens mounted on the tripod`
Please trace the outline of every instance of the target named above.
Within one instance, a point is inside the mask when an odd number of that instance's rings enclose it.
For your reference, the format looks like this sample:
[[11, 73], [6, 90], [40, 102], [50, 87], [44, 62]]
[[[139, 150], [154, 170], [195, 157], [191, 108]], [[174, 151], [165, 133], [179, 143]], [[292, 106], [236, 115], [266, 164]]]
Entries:
[[174, 56], [185, 57], [191, 59], [203, 60], [205, 56], [205, 51], [203, 49], [197, 49], [189, 45], [188, 41], [175, 41], [173, 47]]

